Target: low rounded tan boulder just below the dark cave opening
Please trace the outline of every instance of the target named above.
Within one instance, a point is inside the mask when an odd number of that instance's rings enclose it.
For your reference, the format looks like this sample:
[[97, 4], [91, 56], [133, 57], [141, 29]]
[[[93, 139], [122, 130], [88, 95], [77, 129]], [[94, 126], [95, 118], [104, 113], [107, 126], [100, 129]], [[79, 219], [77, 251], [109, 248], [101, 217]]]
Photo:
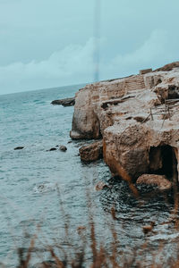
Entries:
[[143, 174], [136, 181], [137, 184], [156, 185], [160, 190], [167, 190], [172, 187], [171, 181], [166, 179], [166, 176], [155, 174]]

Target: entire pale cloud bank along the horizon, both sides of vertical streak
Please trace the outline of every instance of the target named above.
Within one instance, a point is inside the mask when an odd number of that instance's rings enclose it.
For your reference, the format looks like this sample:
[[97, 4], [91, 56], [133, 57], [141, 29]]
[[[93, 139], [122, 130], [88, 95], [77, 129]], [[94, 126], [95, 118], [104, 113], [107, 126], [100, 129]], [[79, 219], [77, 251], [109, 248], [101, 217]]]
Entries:
[[[155, 29], [141, 46], [128, 54], [101, 57], [100, 79], [138, 73], [143, 68], [155, 68], [178, 60], [178, 37], [171, 42], [170, 33]], [[107, 42], [107, 40], [105, 41]], [[104, 40], [101, 41], [101, 47]], [[175, 46], [174, 46], [175, 44]], [[112, 49], [112, 48], [110, 48]], [[101, 54], [107, 52], [101, 51]], [[46, 60], [12, 63], [0, 67], [0, 93], [50, 88], [93, 81], [94, 39], [82, 45], [70, 45], [51, 54]]]

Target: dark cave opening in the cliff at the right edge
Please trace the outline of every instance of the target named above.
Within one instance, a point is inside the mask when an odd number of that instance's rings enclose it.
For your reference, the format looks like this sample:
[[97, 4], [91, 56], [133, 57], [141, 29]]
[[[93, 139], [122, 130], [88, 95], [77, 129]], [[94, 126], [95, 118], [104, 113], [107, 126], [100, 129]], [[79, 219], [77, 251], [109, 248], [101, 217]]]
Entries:
[[165, 175], [168, 180], [177, 181], [177, 158], [175, 147], [168, 145], [150, 147], [149, 149], [149, 173]]

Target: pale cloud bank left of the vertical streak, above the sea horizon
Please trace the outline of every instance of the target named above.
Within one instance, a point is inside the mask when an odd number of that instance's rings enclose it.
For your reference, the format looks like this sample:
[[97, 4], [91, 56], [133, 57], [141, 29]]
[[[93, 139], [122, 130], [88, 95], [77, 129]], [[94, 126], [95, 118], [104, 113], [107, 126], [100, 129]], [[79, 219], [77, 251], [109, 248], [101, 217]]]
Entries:
[[93, 38], [84, 45], [70, 45], [47, 60], [12, 63], [0, 67], [0, 92], [57, 87], [92, 80]]

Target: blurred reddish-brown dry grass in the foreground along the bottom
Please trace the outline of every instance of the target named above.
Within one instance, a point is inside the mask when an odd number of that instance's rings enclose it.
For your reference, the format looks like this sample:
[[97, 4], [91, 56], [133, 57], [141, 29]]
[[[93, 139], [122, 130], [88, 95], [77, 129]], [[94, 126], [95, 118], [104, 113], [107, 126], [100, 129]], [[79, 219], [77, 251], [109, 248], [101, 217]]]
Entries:
[[[132, 186], [133, 188], [134, 186]], [[130, 187], [131, 188], [131, 187]], [[66, 214], [64, 209], [63, 198], [59, 188], [57, 189], [59, 197], [60, 211], [64, 217], [64, 240], [58, 241], [55, 245], [50, 246], [47, 243], [44, 245], [48, 254], [50, 255], [49, 261], [43, 261], [41, 259], [40, 264], [31, 266], [30, 261], [37, 255], [35, 250], [36, 241], [40, 239], [38, 233], [30, 239], [30, 246], [28, 250], [24, 250], [23, 247], [18, 248], [17, 254], [19, 256], [18, 268], [100, 268], [100, 267], [111, 267], [111, 268], [128, 268], [128, 267], [151, 267], [151, 268], [176, 268], [179, 267], [179, 254], [173, 255], [166, 260], [165, 255], [162, 255], [162, 250], [165, 247], [165, 243], [161, 242], [152, 255], [152, 260], [148, 261], [148, 252], [150, 251], [148, 239], [144, 239], [144, 244], [140, 248], [136, 248], [132, 253], [124, 253], [120, 250], [120, 241], [117, 236], [116, 225], [117, 218], [115, 216], [115, 208], [111, 209], [111, 221], [107, 222], [108, 229], [111, 233], [111, 244], [108, 248], [104, 246], [103, 241], [98, 241], [96, 235], [96, 224], [93, 217], [92, 202], [90, 200], [90, 193], [87, 191], [87, 204], [88, 204], [88, 215], [89, 224], [87, 226], [79, 226], [77, 228], [78, 243], [73, 243], [72, 234], [70, 233], [70, 220], [69, 215]], [[136, 191], [134, 191], [136, 194]], [[178, 210], [178, 194], [175, 193], [175, 209], [171, 212], [171, 217], [168, 219], [168, 224], [175, 224], [175, 228], [178, 230], [179, 221], [175, 217], [176, 211]], [[166, 224], [166, 222], [164, 222]], [[141, 226], [141, 232], [147, 236], [150, 235], [154, 226]], [[146, 231], [148, 230], [148, 231]], [[179, 248], [179, 239], [174, 239], [176, 247]], [[64, 246], [65, 245], [65, 246]], [[78, 246], [74, 246], [78, 245]], [[89, 255], [86, 255], [86, 249], [90, 251]], [[40, 255], [39, 255], [40, 258]]]

